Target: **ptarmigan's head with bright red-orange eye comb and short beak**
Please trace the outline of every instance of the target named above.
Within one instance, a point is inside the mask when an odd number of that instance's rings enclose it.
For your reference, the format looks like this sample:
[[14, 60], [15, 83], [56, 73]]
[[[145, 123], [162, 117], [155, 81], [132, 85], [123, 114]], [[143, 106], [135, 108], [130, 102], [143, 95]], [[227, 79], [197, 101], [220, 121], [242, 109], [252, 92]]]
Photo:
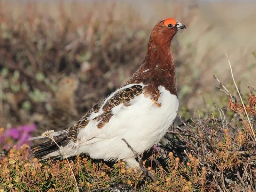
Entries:
[[174, 18], [167, 18], [155, 25], [150, 39], [162, 44], [170, 43], [179, 29], [186, 29], [186, 26]]

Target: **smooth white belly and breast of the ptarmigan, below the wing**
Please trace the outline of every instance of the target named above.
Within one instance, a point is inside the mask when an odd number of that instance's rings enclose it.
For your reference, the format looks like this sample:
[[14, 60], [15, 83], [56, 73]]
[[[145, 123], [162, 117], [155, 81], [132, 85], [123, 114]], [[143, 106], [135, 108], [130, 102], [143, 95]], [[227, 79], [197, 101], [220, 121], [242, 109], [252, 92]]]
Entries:
[[159, 86], [159, 90], [158, 103], [161, 107], [144, 95], [136, 97], [129, 107], [123, 107], [116, 113], [113, 111], [109, 123], [102, 128], [105, 135], [116, 133], [115, 137], [81, 146], [79, 152], [86, 152], [95, 159], [118, 160], [134, 156], [122, 138], [138, 153], [158, 143], [173, 123], [178, 110], [177, 96], [162, 86]]

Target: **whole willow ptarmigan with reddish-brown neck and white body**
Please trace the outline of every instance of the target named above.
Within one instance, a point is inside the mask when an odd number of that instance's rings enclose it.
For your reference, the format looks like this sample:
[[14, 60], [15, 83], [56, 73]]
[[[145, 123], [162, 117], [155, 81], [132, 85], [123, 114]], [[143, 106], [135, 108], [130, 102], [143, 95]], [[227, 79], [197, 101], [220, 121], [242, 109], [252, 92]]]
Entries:
[[[77, 123], [54, 133], [61, 150], [48, 140], [31, 147], [34, 157], [64, 158], [87, 153], [93, 159], [122, 159], [130, 167], [139, 167], [122, 138], [141, 154], [158, 143], [172, 125], [179, 102], [170, 45], [177, 31], [184, 28], [173, 18], [155, 25], [146, 57], [130, 80]], [[43, 134], [31, 140], [41, 138]]]

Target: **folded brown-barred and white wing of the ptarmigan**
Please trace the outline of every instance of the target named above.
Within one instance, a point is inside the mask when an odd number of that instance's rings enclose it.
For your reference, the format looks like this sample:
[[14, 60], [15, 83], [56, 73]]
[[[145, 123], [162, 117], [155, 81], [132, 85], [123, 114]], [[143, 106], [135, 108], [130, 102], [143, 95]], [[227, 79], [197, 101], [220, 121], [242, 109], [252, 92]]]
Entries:
[[83, 144], [90, 144], [117, 136], [118, 133], [111, 130], [108, 131], [111, 134], [104, 134], [104, 126], [109, 123], [113, 115], [118, 118], [118, 113], [125, 107], [136, 104], [138, 101], [135, 101], [135, 98], [143, 94], [143, 87], [145, 85], [142, 83], [134, 83], [117, 89], [71, 126], [67, 130], [67, 137], [73, 141], [82, 138]]

